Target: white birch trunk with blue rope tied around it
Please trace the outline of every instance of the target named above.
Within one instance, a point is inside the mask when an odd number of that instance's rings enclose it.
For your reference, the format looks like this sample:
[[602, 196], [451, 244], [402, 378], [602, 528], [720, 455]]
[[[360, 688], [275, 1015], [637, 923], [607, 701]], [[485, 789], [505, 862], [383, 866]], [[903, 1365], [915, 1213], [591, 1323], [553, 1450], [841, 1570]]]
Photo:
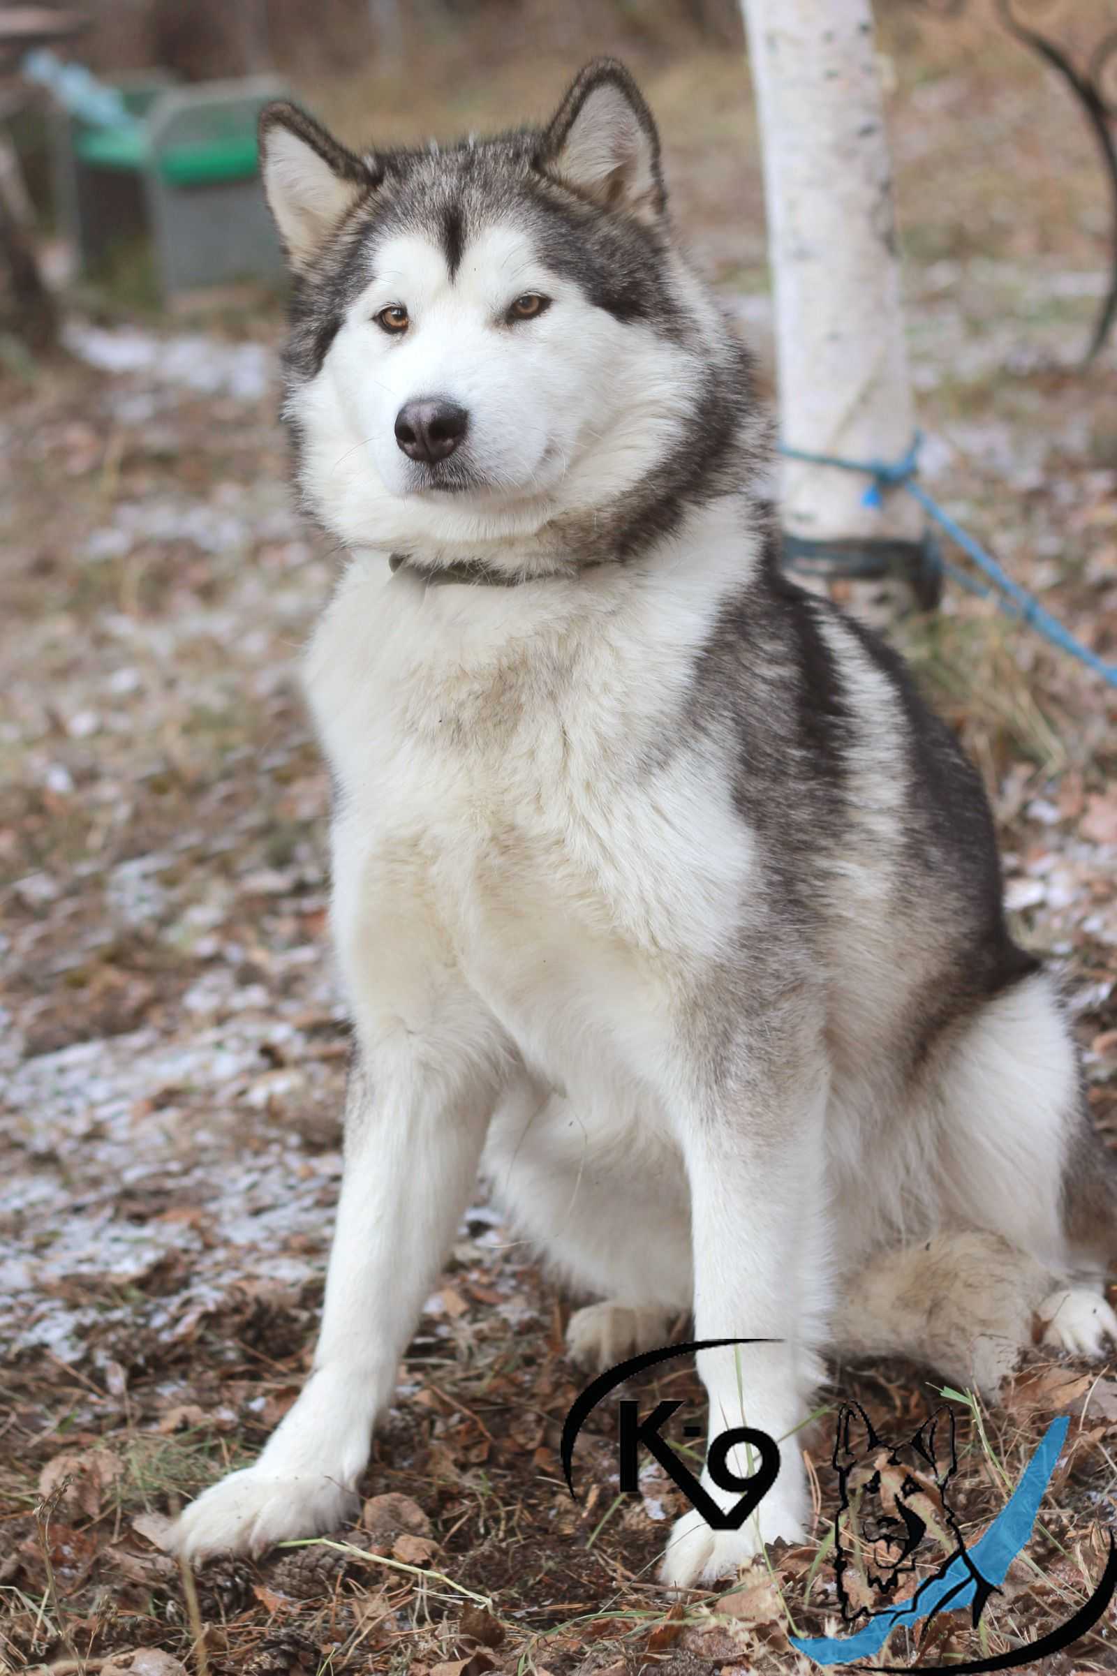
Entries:
[[[780, 431], [792, 447], [901, 456], [914, 407], [870, 0], [741, 0], [760, 111]], [[919, 540], [906, 494], [783, 463], [783, 528]]]

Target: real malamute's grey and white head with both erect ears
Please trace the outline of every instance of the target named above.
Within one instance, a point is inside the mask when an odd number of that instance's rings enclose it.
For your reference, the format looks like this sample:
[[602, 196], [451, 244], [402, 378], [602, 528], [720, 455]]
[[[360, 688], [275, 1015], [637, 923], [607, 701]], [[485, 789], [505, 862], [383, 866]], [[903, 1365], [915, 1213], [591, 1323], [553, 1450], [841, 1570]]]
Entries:
[[260, 134], [300, 484], [349, 546], [500, 563], [558, 525], [624, 551], [651, 499], [740, 474], [748, 362], [674, 248], [619, 64], [495, 139], [357, 154], [290, 104]]

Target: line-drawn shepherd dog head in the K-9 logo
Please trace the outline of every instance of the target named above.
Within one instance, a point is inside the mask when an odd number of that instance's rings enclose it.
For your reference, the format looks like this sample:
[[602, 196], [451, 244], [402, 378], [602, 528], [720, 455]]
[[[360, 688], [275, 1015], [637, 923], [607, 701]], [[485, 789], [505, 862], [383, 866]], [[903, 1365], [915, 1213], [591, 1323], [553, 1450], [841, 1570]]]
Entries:
[[946, 1554], [961, 1544], [946, 1502], [958, 1466], [954, 1416], [941, 1408], [911, 1440], [889, 1443], [850, 1403], [839, 1416], [834, 1465], [840, 1490], [837, 1584], [842, 1614], [855, 1621], [894, 1599], [933, 1544]]

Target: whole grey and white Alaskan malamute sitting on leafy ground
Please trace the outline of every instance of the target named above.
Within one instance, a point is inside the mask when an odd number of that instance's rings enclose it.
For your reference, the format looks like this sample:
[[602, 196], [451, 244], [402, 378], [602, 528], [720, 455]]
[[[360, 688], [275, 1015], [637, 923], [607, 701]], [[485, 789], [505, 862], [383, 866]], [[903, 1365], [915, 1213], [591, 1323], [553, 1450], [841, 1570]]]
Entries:
[[[985, 1389], [1033, 1316], [1100, 1353], [1115, 1198], [981, 784], [780, 575], [750, 359], [632, 79], [451, 147], [359, 156], [288, 104], [262, 134], [299, 486], [349, 555], [305, 680], [357, 1066], [314, 1373], [179, 1545], [342, 1522], [478, 1166], [604, 1299], [577, 1358], [684, 1311], [773, 1341], [699, 1356], [711, 1436], [790, 1438], [827, 1348]], [[803, 1508], [790, 1441], [664, 1582]]]

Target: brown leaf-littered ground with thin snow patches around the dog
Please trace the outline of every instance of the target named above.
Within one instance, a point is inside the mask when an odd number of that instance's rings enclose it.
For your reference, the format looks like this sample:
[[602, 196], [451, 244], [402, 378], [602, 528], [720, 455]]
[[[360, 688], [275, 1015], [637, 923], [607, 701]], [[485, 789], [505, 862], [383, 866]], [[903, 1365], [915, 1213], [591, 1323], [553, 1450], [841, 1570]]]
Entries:
[[[884, 23], [926, 481], [1117, 659], [1117, 347], [1078, 365], [1107, 256], [1090, 139], [988, 18], [892, 7]], [[575, 35], [528, 52], [453, 34], [426, 44], [421, 77], [305, 92], [354, 137], [505, 124], [617, 45], [585, 20]], [[689, 243], [768, 354], [745, 64], [636, 27], [619, 45], [661, 117]], [[834, 1369], [815, 1426], [785, 1445], [805, 1448], [815, 1487], [808, 1540], [730, 1591], [671, 1601], [654, 1565], [679, 1492], [657, 1468], [617, 1492], [605, 1404], [570, 1500], [570, 1301], [481, 1188], [408, 1349], [359, 1523], [193, 1577], [163, 1549], [168, 1515], [295, 1398], [340, 1170], [327, 776], [294, 677], [335, 555], [288, 498], [280, 342], [275, 308], [190, 327], [84, 308], [70, 354], [3, 387], [0, 1669], [807, 1671], [788, 1634], [839, 1627], [837, 1406], [855, 1398], [901, 1438], [938, 1388], [907, 1366]], [[1018, 935], [1063, 979], [1114, 1136], [1114, 694], [954, 588], [894, 632], [981, 764]], [[639, 1394], [701, 1411], [686, 1364]], [[969, 1537], [1053, 1415], [1070, 1413], [1070, 1436], [979, 1634], [964, 1614], [919, 1653], [899, 1634], [901, 1666], [985, 1658], [1067, 1621], [1117, 1529], [1112, 1368], [1031, 1351], [1003, 1404], [948, 1401]], [[938, 1559], [931, 1544], [924, 1570]], [[1117, 1669], [1112, 1612], [1033, 1668]]]

